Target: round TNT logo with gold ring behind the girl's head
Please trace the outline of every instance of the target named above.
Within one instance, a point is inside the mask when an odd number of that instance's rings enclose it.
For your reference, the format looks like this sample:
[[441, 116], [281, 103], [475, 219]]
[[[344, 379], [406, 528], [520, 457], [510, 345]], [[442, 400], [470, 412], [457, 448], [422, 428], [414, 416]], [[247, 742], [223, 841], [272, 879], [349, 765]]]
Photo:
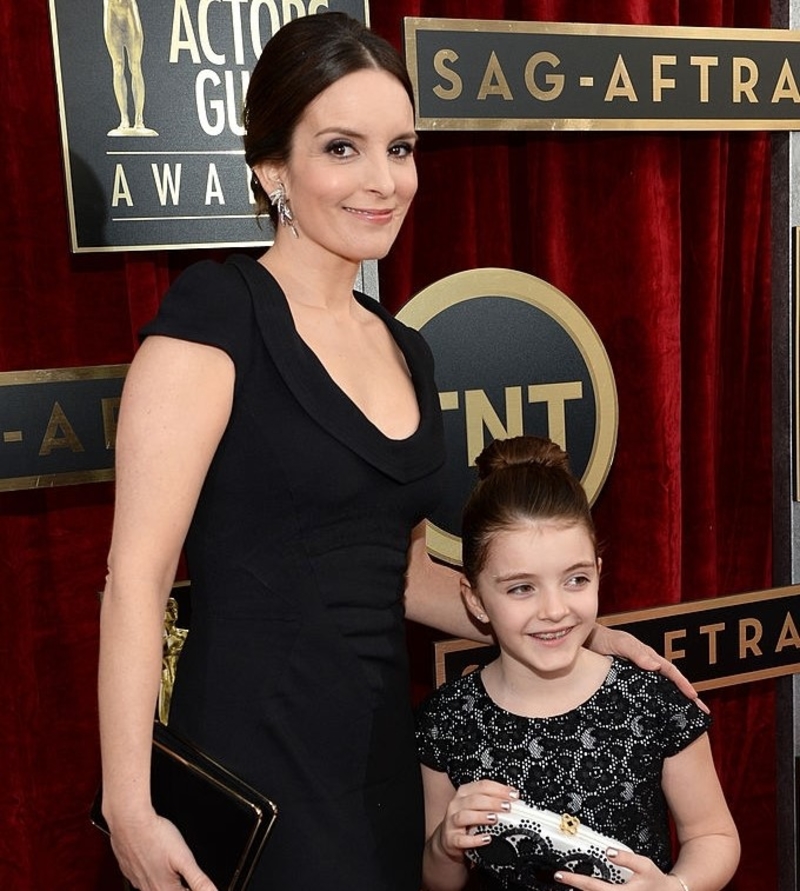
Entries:
[[430, 285], [397, 317], [436, 360], [447, 465], [432, 554], [460, 563], [461, 508], [492, 439], [550, 437], [594, 500], [614, 456], [617, 391], [597, 332], [565, 294], [522, 272], [473, 269]]

